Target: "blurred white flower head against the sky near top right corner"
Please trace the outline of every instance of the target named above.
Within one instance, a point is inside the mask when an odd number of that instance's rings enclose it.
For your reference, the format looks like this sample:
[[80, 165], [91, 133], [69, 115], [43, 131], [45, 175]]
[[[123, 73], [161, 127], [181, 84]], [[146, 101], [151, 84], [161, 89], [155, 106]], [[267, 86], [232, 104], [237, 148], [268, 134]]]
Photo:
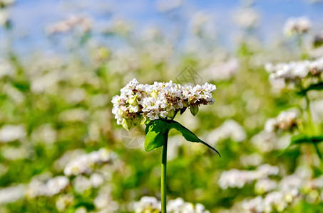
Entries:
[[288, 18], [284, 24], [284, 35], [290, 37], [294, 34], [307, 33], [311, 28], [311, 22], [306, 16]]

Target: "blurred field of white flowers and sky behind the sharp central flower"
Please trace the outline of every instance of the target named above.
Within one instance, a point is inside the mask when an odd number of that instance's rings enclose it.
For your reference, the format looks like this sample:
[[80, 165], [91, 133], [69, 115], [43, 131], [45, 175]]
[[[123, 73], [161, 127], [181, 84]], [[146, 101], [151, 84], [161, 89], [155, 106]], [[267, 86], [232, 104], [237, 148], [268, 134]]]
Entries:
[[322, 134], [322, 92], [304, 100], [265, 65], [323, 70], [322, 11], [319, 0], [0, 0], [0, 212], [159, 212], [161, 149], [146, 153], [144, 126], [125, 131], [111, 113], [134, 77], [217, 86], [213, 106], [175, 120], [222, 158], [170, 132], [170, 212], [320, 211], [315, 149], [278, 153], [307, 123]]

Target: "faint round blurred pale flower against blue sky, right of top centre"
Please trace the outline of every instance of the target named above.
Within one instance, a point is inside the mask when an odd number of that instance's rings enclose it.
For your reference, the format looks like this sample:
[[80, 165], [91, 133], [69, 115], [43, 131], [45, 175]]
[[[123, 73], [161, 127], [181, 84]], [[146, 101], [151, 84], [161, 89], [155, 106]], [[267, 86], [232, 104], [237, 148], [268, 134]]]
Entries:
[[234, 21], [242, 28], [255, 28], [259, 23], [260, 14], [254, 9], [240, 9], [233, 16]]

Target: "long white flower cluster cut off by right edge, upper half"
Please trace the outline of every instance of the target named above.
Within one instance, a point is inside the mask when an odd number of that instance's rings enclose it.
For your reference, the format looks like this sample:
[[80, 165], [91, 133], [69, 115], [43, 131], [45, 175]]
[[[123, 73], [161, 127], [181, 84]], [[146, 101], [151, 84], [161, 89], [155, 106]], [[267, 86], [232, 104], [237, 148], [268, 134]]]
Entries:
[[282, 79], [285, 82], [303, 80], [305, 77], [314, 77], [323, 72], [323, 58], [309, 61], [292, 61], [289, 63], [278, 63], [273, 65], [267, 63], [265, 69], [270, 73], [270, 80]]

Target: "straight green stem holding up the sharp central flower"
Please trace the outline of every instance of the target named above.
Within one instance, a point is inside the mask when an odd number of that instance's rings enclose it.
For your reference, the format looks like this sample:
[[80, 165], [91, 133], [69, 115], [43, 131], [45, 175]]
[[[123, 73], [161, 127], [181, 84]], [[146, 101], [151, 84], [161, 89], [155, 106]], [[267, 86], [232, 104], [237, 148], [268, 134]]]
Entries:
[[163, 146], [162, 165], [161, 165], [161, 181], [160, 181], [160, 197], [161, 197], [161, 213], [166, 213], [166, 166], [167, 166], [167, 142], [168, 132], [166, 133], [166, 141]]

